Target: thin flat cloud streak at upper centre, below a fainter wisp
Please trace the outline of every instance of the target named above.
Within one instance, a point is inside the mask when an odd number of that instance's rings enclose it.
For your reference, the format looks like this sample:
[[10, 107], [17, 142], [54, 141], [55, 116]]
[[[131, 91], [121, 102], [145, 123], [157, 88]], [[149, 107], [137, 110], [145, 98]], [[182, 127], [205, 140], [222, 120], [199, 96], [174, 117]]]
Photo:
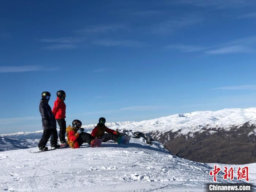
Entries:
[[99, 39], [92, 41], [94, 45], [100, 46], [121, 46], [121, 47], [136, 47], [136, 46], [143, 46], [145, 45], [143, 42], [140, 41], [133, 41], [133, 40], [113, 40], [113, 39]]

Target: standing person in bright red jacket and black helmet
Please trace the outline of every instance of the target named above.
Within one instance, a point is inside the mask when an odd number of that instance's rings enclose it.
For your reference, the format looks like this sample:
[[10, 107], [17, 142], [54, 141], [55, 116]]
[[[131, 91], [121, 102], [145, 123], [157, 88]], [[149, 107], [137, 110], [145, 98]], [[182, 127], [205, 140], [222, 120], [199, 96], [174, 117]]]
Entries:
[[63, 90], [57, 91], [57, 99], [54, 101], [52, 112], [55, 116], [56, 121], [60, 126], [59, 138], [60, 144], [68, 144], [65, 140], [66, 133], [66, 104], [64, 103], [66, 93]]

